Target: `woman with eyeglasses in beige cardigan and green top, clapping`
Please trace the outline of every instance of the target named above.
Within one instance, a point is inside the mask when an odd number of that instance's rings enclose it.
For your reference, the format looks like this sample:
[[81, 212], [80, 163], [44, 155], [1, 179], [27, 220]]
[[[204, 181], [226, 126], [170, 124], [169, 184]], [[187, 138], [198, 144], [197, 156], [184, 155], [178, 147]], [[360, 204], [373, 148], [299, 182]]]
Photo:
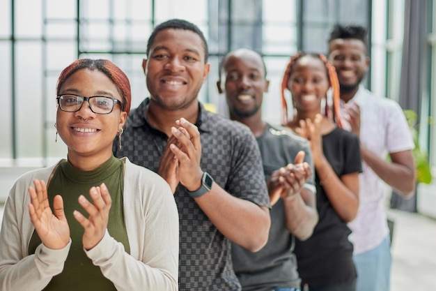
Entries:
[[0, 230], [0, 290], [178, 290], [178, 211], [158, 174], [115, 158], [130, 83], [79, 59], [56, 86], [68, 159], [17, 179]]

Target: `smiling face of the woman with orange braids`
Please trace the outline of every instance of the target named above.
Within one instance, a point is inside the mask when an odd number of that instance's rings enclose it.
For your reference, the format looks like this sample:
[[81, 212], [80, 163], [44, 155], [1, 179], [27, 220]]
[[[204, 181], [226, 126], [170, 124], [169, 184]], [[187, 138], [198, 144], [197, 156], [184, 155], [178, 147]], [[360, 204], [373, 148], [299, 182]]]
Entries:
[[306, 55], [295, 61], [288, 89], [298, 112], [319, 113], [322, 98], [325, 98], [329, 87], [327, 69], [321, 59]]

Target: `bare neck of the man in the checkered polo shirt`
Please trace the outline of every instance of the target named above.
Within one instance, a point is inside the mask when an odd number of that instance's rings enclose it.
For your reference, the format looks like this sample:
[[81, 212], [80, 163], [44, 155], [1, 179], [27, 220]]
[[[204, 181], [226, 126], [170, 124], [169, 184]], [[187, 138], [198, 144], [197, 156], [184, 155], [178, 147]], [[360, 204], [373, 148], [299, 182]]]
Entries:
[[166, 133], [167, 136], [171, 136], [171, 127], [176, 126], [176, 120], [182, 117], [190, 123], [196, 124], [199, 105], [198, 102], [195, 102], [182, 110], [167, 110], [157, 105], [153, 100], [150, 100], [147, 110], [147, 118], [150, 125]]

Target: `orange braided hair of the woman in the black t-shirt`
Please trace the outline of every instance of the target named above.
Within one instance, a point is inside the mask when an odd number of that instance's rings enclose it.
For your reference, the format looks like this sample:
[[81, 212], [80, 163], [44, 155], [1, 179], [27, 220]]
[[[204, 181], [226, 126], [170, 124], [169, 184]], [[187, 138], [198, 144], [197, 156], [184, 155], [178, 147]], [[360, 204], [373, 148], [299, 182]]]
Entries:
[[336, 70], [332, 64], [329, 63], [324, 54], [306, 54], [304, 52], [297, 52], [292, 57], [290, 57], [290, 61], [286, 66], [285, 73], [283, 75], [283, 80], [281, 81], [281, 124], [288, 124], [288, 103], [286, 101], [285, 90], [288, 89], [288, 82], [290, 78], [290, 73], [292, 73], [293, 66], [295, 62], [304, 57], [306, 55], [310, 55], [311, 57], [318, 57], [324, 64], [327, 69], [327, 77], [329, 78], [330, 86], [333, 91], [333, 112], [329, 113], [331, 110], [329, 108], [329, 104], [325, 103], [325, 116], [332, 121], [335, 121], [339, 127], [343, 127], [341, 113], [339, 112], [340, 108], [340, 91], [339, 91], [339, 81], [338, 75], [336, 74]]

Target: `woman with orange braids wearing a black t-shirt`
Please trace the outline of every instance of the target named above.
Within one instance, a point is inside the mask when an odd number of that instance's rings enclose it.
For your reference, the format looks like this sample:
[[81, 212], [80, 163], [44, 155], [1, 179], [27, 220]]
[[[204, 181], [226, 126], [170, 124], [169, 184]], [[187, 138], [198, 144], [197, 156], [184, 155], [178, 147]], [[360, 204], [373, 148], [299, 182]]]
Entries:
[[[332, 104], [327, 102], [330, 88]], [[334, 67], [322, 54], [299, 52], [291, 57], [281, 87], [282, 122], [311, 143], [319, 214], [312, 236], [295, 243], [302, 290], [355, 290], [347, 223], [356, 217], [359, 206], [361, 157], [357, 137], [340, 127], [338, 88]], [[295, 110], [289, 120], [286, 89]]]

